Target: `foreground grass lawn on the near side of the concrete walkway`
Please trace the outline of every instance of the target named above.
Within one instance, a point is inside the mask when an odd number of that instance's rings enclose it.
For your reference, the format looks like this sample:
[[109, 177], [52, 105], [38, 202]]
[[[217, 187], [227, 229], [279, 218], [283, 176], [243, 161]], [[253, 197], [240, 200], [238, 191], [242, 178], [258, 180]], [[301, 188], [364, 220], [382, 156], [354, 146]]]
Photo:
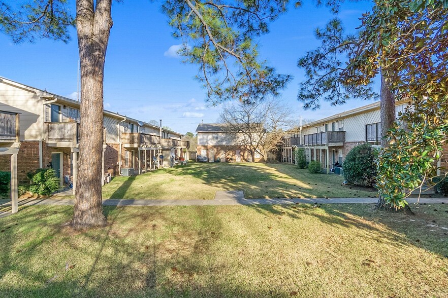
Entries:
[[448, 206], [72, 208], [0, 218], [2, 297], [447, 297]]

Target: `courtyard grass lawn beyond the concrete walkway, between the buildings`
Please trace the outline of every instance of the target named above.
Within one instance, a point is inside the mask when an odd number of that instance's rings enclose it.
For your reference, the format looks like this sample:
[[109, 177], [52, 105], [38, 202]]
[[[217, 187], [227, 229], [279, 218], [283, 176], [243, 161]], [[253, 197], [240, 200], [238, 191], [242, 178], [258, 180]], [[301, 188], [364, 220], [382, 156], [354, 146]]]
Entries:
[[339, 175], [309, 174], [288, 164], [189, 163], [131, 177], [115, 177], [105, 199], [213, 199], [219, 190], [242, 190], [247, 199], [344, 198], [376, 191], [341, 185]]

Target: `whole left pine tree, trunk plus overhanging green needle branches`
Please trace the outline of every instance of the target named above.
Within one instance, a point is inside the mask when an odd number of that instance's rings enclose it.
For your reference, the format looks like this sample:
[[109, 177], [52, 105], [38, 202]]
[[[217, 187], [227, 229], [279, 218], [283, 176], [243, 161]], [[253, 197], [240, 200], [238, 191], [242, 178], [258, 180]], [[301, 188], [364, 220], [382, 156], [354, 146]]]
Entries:
[[[290, 77], [276, 73], [260, 59], [254, 42], [268, 32], [269, 22], [286, 11], [286, 0], [162, 1], [174, 35], [185, 45], [185, 61], [199, 65], [197, 80], [208, 100], [241, 102], [277, 95]], [[103, 81], [112, 0], [0, 0], [0, 31], [14, 42], [49, 38], [69, 42], [76, 25], [81, 64], [80, 175], [77, 180], [74, 228], [106, 225], [102, 212]], [[75, 18], [76, 15], [76, 18]], [[152, 24], [156, 26], [157, 24]]]

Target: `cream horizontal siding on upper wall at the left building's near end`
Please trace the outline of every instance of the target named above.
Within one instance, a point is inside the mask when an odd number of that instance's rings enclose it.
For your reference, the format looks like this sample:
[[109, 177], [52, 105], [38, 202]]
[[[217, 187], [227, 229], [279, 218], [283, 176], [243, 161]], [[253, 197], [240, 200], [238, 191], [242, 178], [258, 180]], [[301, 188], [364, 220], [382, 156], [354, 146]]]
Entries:
[[0, 110], [20, 113], [21, 141], [42, 139], [42, 102], [33, 92], [0, 83]]

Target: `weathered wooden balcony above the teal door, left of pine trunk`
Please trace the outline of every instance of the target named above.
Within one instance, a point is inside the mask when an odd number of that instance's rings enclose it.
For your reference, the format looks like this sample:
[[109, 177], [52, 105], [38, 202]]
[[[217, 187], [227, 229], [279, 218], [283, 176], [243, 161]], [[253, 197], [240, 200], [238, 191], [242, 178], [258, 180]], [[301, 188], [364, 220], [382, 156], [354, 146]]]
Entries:
[[79, 143], [79, 123], [46, 122], [47, 145], [52, 147], [76, 147]]

